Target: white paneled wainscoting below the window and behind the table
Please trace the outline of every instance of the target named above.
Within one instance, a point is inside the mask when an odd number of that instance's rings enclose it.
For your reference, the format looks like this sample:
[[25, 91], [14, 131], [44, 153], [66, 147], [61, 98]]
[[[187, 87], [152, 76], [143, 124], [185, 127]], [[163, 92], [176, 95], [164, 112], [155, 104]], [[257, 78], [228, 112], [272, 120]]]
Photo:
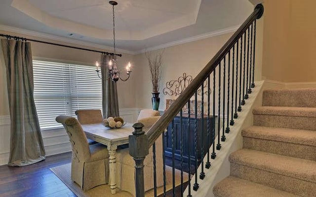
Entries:
[[[141, 108], [119, 109], [120, 116], [130, 123], [137, 120]], [[46, 156], [71, 151], [71, 144], [64, 129], [42, 131]], [[10, 152], [10, 117], [0, 116], [0, 165], [7, 164]]]

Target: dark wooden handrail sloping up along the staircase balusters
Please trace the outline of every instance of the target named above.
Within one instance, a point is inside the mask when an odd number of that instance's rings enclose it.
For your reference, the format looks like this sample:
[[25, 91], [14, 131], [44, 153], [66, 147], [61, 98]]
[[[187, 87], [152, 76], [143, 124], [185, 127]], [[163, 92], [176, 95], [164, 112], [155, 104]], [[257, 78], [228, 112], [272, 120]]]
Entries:
[[238, 41], [240, 36], [249, 28], [254, 20], [261, 18], [263, 14], [263, 5], [258, 4], [246, 21], [238, 28], [232, 37], [224, 44], [224, 46], [216, 53], [216, 55], [207, 63], [207, 65], [199, 72], [190, 85], [181, 93], [181, 95], [172, 103], [172, 105], [163, 113], [161, 118], [147, 132], [149, 137], [149, 147], [151, 147], [158, 139], [160, 134], [167, 128], [170, 121], [178, 114], [187, 101], [195, 94], [201, 83], [206, 80], [226, 54]]

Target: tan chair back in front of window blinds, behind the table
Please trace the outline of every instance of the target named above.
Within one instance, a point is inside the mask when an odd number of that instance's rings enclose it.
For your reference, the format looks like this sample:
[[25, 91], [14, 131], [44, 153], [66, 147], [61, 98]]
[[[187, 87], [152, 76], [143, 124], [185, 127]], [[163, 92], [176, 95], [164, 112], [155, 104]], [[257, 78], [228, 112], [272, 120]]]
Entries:
[[79, 109], [75, 111], [79, 123], [84, 124], [94, 124], [102, 123], [103, 117], [100, 109]]

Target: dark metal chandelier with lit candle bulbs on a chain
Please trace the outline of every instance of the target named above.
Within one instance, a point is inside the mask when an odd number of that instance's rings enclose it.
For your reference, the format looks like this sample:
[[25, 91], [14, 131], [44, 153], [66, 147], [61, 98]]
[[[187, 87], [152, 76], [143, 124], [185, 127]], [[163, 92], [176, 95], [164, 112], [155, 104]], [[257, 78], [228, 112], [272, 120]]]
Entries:
[[99, 75], [99, 72], [100, 72], [100, 65], [98, 62], [95, 63], [95, 66], [97, 67], [96, 71], [98, 73], [98, 77], [102, 80], [108, 80], [109, 78], [111, 78], [112, 81], [114, 82], [117, 82], [118, 79], [122, 80], [122, 81], [127, 81], [127, 79], [130, 77], [130, 73], [132, 72], [130, 67], [131, 67], [131, 64], [128, 63], [127, 66], [126, 66], [126, 74], [127, 74], [127, 77], [124, 79], [124, 78], [121, 78], [120, 76], [120, 70], [118, 69], [117, 67], [117, 54], [116, 54], [116, 47], [115, 47], [115, 15], [114, 15], [114, 5], [117, 5], [118, 2], [114, 1], [114, 0], [110, 0], [109, 3], [112, 5], [112, 10], [113, 10], [113, 47], [114, 47], [114, 54], [112, 56], [112, 60], [109, 61], [108, 65], [109, 65], [109, 76], [107, 77], [101, 77]]

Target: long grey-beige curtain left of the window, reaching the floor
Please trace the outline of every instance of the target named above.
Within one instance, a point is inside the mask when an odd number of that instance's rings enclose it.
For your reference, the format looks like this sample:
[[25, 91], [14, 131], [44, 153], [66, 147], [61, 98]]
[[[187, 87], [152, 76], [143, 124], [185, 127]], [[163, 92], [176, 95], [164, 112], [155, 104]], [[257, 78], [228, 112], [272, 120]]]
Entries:
[[1, 45], [11, 119], [8, 165], [34, 164], [45, 159], [45, 150], [33, 98], [31, 43], [1, 39]]

